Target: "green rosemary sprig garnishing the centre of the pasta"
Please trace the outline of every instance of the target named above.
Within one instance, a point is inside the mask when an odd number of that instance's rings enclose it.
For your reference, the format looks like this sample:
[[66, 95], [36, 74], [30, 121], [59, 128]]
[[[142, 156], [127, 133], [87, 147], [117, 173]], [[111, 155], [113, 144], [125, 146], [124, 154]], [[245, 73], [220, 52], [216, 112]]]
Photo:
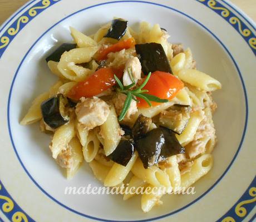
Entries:
[[[129, 75], [132, 76], [132, 73], [130, 73]], [[149, 91], [143, 90], [143, 87], [149, 81], [150, 76], [151, 76], [151, 72], [149, 73], [149, 75], [147, 75], [145, 81], [138, 88], [136, 88], [135, 90], [131, 90], [131, 87], [135, 86], [135, 81], [133, 78], [131, 78], [132, 83], [129, 86], [124, 86], [124, 85], [122, 85], [122, 82], [119, 80], [119, 78], [117, 78], [117, 76], [114, 75], [117, 85], [120, 88], [118, 90], [118, 92], [124, 93], [126, 95], [125, 103], [124, 103], [124, 106], [122, 107], [122, 111], [121, 111], [121, 114], [118, 119], [119, 121], [124, 119], [127, 111], [129, 110], [129, 107], [131, 105], [131, 100], [135, 100], [137, 102], [136, 97], [140, 97], [143, 100], [145, 100], [147, 102], [147, 104], [149, 104], [149, 106], [152, 106], [150, 101], [154, 101], [154, 102], [168, 102], [169, 101], [169, 100], [165, 100], [163, 98], [159, 98], [157, 96], [145, 93], [145, 92], [149, 92]]]

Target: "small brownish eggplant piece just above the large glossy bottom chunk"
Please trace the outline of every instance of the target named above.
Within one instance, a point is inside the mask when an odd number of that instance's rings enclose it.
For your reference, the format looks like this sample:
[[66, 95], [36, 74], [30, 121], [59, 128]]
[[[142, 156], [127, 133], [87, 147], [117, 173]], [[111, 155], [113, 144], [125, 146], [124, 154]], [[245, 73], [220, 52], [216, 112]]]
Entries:
[[150, 130], [151, 124], [151, 118], [140, 114], [131, 130], [133, 139], [136, 140], [144, 136]]

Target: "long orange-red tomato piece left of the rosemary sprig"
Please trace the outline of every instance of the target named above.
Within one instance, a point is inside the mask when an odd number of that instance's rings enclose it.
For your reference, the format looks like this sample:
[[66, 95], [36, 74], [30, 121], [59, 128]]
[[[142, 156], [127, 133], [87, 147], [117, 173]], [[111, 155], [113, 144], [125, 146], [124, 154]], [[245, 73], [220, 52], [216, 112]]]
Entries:
[[100, 68], [94, 72], [85, 81], [78, 82], [68, 92], [68, 97], [73, 100], [79, 100], [81, 97], [92, 97], [99, 95], [101, 92], [111, 88], [116, 84], [114, 75], [121, 78], [124, 74], [124, 67], [120, 68]]

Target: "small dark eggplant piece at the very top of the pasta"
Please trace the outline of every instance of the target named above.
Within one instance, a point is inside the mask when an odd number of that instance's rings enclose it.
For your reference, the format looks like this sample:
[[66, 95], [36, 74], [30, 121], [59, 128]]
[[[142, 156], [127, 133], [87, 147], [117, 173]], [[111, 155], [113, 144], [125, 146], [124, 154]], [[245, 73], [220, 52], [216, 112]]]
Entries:
[[126, 33], [127, 23], [127, 21], [124, 21], [122, 19], [112, 20], [111, 27], [104, 37], [115, 38], [116, 40], [120, 40]]

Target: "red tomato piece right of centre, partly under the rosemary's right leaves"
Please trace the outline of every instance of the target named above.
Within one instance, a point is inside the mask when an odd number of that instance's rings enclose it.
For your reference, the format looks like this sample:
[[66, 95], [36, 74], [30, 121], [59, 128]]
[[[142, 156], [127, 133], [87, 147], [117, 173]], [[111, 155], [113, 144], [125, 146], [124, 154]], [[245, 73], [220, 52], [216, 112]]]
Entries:
[[[174, 75], [169, 72], [155, 71], [151, 74], [149, 81], [144, 86], [143, 90], [148, 90], [147, 94], [157, 96], [159, 98], [171, 100], [184, 87], [181, 82]], [[138, 107], [149, 107], [145, 100], [137, 98]], [[159, 102], [151, 102], [152, 106], [159, 105]]]

